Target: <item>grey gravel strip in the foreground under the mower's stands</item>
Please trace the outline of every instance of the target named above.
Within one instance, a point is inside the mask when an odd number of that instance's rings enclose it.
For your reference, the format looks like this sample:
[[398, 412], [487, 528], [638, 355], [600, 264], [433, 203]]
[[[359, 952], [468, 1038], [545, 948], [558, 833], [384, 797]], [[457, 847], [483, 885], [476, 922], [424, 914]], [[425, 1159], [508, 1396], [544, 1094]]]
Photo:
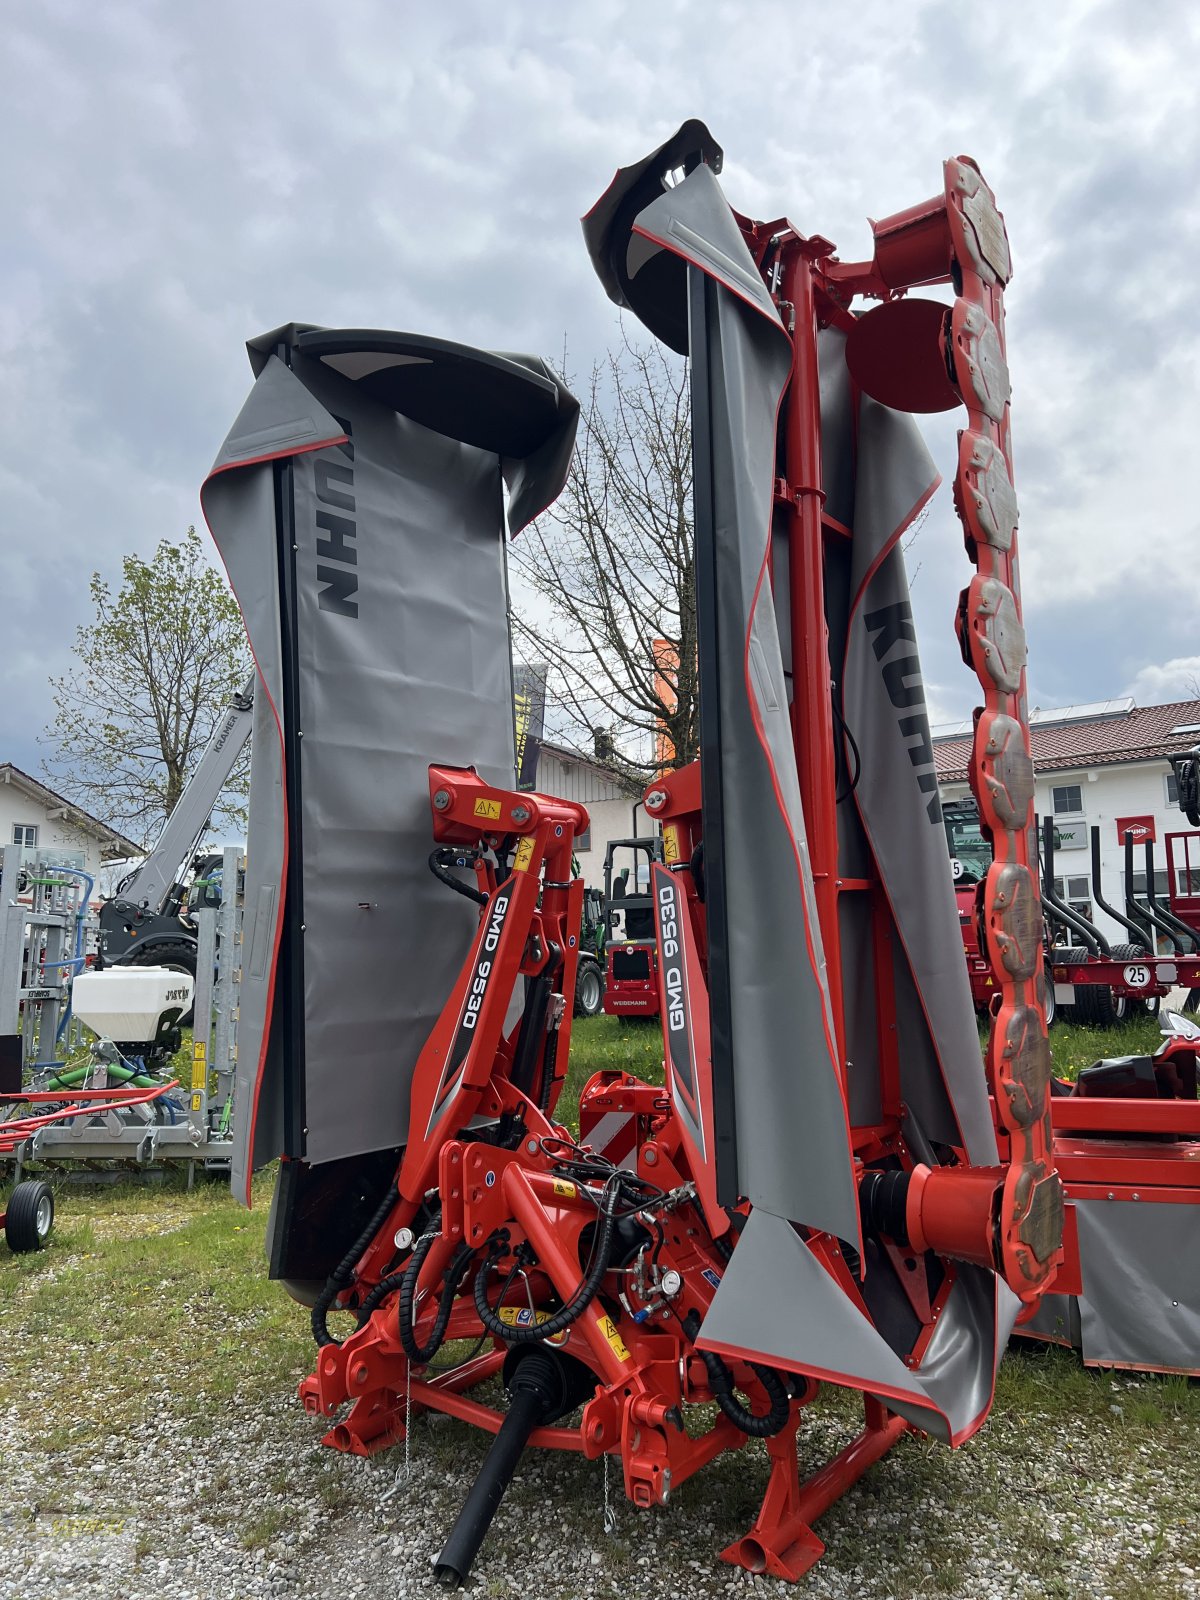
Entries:
[[[272, 1595], [440, 1592], [430, 1563], [483, 1440], [456, 1422], [414, 1426], [371, 1461], [326, 1451], [286, 1395], [238, 1400], [181, 1426], [173, 1379], [146, 1378], [142, 1403], [114, 1406], [101, 1437], [46, 1448], [30, 1411], [61, 1416], [69, 1366], [0, 1416], [5, 1501], [0, 1595], [13, 1600], [250, 1600]], [[96, 1382], [96, 1373], [90, 1374]], [[99, 1379], [102, 1389], [102, 1378]], [[1107, 1384], [1109, 1381], [1104, 1379]], [[1106, 1390], [1112, 1426], [998, 1413], [957, 1453], [904, 1440], [821, 1522], [826, 1558], [808, 1597], [1200, 1594], [1192, 1462], [1126, 1426], [1146, 1382]], [[93, 1395], [94, 1398], [94, 1395]], [[21, 1414], [18, 1414], [18, 1411]], [[24, 1421], [22, 1421], [24, 1418]], [[818, 1410], [813, 1464], [848, 1437], [840, 1403]], [[1195, 1429], [1189, 1424], [1192, 1443]], [[765, 1478], [757, 1448], [726, 1458], [661, 1512], [622, 1499], [603, 1533], [598, 1462], [531, 1454], [472, 1574], [477, 1595], [797, 1594], [717, 1563], [744, 1531]], [[395, 1490], [395, 1493], [392, 1493]]]

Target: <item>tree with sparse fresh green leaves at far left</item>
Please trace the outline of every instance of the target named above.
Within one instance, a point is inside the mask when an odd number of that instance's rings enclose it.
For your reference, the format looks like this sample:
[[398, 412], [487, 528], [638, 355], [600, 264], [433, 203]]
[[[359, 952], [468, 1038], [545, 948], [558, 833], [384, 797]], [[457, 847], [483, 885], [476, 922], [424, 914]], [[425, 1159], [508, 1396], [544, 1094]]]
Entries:
[[[77, 629], [77, 666], [51, 678], [46, 779], [144, 845], [174, 810], [222, 709], [250, 674], [237, 602], [195, 528], [154, 558], [126, 555], [114, 595], [91, 574], [94, 622]], [[214, 813], [245, 818], [243, 755]]]

